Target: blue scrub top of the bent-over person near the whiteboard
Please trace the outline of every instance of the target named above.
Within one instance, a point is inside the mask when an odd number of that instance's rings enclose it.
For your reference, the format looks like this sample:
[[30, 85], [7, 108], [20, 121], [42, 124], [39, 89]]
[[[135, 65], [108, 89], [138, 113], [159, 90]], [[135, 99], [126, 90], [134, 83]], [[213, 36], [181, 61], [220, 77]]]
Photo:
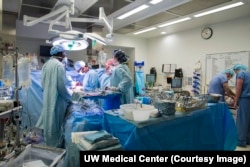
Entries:
[[227, 82], [228, 80], [225, 74], [220, 73], [215, 75], [209, 83], [208, 93], [221, 94], [222, 97], [220, 101], [224, 101], [225, 90], [223, 84]]

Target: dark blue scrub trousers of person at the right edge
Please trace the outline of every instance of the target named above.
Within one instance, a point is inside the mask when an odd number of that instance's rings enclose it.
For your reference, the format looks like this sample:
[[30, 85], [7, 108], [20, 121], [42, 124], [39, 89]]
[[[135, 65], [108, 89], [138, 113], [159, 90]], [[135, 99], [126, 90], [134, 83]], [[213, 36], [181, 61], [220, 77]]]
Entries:
[[238, 146], [250, 145], [250, 97], [239, 99], [236, 126], [238, 131]]

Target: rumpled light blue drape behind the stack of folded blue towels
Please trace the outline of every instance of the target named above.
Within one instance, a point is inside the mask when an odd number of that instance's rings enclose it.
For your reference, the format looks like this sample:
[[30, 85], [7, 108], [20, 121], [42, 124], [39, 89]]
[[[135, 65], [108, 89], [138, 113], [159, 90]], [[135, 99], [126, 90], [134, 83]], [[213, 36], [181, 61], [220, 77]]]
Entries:
[[71, 133], [103, 130], [104, 110], [87, 100], [86, 103], [72, 104], [64, 124], [66, 157], [64, 167], [80, 167], [79, 149], [72, 143]]

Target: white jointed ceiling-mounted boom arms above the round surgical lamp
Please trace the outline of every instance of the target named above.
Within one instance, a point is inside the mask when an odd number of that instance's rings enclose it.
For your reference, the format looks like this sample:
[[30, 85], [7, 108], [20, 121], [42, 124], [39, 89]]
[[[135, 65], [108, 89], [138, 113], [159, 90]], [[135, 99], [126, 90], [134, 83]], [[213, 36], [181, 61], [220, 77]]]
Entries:
[[[68, 1], [68, 0], [66, 0]], [[76, 18], [71, 17], [74, 14], [74, 0], [69, 0], [70, 4], [64, 4], [63, 1], [58, 1], [58, 4], [62, 5], [60, 8], [53, 10], [49, 14], [42, 16], [40, 18], [28, 17], [24, 15], [24, 25], [25, 26], [33, 26], [38, 24], [39, 22], [49, 23], [48, 32], [52, 34], [58, 34], [59, 37], [63, 39], [69, 40], [82, 40], [86, 38], [95, 39], [99, 43], [106, 45], [106, 40], [98, 34], [95, 33], [81, 33], [79, 31], [72, 30], [72, 22], [92, 22], [92, 23], [101, 23], [107, 29], [109, 34], [106, 35], [107, 39], [112, 39], [113, 37], [113, 20], [108, 20], [104, 13], [103, 7], [99, 8], [99, 18], [92, 19], [92, 18]], [[52, 18], [53, 17], [53, 18]], [[62, 32], [60, 30], [53, 29], [54, 25], [61, 25], [65, 26], [70, 31]]]

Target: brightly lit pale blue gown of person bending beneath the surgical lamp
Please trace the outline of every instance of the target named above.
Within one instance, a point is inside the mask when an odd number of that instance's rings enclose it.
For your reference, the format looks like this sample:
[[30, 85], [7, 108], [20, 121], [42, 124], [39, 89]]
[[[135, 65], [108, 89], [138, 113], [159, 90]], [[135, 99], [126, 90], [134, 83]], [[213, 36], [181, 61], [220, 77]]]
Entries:
[[90, 69], [85, 73], [82, 86], [84, 91], [94, 91], [99, 87], [98, 74], [95, 70]]

